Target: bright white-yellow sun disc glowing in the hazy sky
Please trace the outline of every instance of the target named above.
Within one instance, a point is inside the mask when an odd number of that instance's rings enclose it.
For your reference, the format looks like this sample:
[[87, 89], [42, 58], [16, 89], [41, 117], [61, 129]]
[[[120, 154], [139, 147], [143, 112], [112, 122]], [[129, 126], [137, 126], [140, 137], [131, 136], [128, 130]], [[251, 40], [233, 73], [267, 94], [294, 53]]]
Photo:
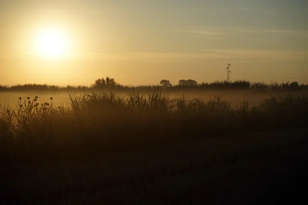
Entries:
[[44, 30], [36, 36], [35, 53], [44, 58], [63, 58], [69, 54], [69, 40], [59, 30]]

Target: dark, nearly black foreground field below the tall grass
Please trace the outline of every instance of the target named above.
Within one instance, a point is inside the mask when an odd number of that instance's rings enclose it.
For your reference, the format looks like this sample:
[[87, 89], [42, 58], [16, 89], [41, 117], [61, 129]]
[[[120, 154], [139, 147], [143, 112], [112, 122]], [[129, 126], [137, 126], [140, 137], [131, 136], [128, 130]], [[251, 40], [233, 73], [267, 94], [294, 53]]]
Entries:
[[1, 168], [2, 204], [305, 204], [308, 129]]

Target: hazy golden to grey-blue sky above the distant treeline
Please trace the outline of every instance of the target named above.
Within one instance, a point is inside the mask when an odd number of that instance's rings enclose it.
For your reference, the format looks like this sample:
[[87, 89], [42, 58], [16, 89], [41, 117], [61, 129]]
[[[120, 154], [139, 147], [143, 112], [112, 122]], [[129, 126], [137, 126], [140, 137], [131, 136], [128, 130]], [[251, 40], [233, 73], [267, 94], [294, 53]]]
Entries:
[[225, 80], [227, 64], [230, 80], [308, 84], [307, 9], [306, 0], [2, 0], [0, 85], [202, 83]]

